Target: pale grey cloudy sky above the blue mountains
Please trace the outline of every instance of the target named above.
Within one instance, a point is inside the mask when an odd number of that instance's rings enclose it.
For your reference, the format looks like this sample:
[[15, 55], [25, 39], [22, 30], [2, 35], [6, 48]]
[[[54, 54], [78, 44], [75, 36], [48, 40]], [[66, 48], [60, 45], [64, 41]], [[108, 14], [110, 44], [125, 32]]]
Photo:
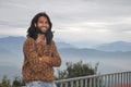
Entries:
[[131, 0], [0, 0], [0, 37], [25, 37], [39, 12], [49, 15], [57, 40], [83, 47], [131, 42]]

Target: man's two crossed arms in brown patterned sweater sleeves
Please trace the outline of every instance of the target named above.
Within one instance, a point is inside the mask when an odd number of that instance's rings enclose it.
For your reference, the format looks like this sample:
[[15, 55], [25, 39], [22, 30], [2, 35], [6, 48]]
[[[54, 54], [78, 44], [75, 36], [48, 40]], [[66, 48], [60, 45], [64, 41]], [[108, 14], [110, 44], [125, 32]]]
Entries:
[[26, 57], [26, 60], [29, 62], [32, 70], [34, 72], [43, 71], [49, 66], [60, 66], [61, 58], [58, 53], [55, 41], [52, 41], [52, 54], [51, 57], [38, 57], [37, 51], [35, 50], [35, 45], [33, 39], [27, 39], [23, 45], [23, 53]]

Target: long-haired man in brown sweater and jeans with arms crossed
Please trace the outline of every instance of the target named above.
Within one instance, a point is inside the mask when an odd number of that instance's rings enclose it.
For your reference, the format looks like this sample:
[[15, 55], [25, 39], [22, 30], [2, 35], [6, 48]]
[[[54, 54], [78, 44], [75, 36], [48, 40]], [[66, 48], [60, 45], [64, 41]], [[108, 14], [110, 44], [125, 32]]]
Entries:
[[56, 87], [53, 66], [61, 65], [51, 32], [51, 22], [45, 12], [34, 16], [23, 44], [23, 79], [27, 87]]

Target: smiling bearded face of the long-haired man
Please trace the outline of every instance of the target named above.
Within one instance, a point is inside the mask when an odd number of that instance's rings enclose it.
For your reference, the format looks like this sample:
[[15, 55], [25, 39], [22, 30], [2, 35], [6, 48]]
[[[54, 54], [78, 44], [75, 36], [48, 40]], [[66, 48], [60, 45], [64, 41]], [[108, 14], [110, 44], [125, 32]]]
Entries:
[[40, 16], [38, 22], [35, 24], [35, 27], [38, 27], [41, 32], [46, 33], [46, 30], [49, 28], [49, 22], [47, 17]]

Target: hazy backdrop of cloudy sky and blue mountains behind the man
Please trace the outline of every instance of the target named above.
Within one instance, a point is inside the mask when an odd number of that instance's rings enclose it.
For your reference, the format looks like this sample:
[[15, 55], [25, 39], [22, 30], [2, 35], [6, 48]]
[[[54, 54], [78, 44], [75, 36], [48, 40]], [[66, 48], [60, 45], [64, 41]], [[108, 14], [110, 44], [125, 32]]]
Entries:
[[[31, 21], [46, 12], [66, 62], [82, 60], [102, 74], [131, 71], [130, 0], [0, 0], [0, 79], [21, 75]], [[57, 75], [57, 71], [55, 72]]]

